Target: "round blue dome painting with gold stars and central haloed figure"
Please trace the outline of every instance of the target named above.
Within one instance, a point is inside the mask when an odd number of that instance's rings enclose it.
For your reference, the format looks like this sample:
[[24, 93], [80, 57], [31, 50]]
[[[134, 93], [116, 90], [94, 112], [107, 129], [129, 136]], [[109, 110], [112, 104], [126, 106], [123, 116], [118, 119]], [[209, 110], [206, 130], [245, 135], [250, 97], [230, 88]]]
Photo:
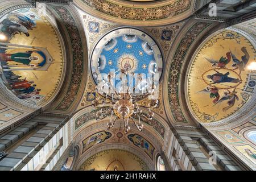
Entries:
[[[92, 52], [90, 68], [96, 84], [106, 82], [110, 72], [118, 75], [121, 69], [125, 69], [128, 75], [141, 74], [146, 79], [154, 77], [154, 83], [158, 84], [163, 58], [158, 45], [145, 32], [119, 28], [98, 41]], [[118, 90], [118, 80], [115, 80], [115, 89]]]

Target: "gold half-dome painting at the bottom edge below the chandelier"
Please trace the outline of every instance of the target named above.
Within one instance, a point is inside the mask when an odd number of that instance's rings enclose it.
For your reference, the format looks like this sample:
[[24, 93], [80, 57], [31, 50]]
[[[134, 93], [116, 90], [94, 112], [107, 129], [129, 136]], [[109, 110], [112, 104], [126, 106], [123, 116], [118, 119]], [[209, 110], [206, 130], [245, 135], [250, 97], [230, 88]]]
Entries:
[[80, 171], [148, 171], [145, 162], [125, 150], [105, 150], [90, 156], [79, 167]]

